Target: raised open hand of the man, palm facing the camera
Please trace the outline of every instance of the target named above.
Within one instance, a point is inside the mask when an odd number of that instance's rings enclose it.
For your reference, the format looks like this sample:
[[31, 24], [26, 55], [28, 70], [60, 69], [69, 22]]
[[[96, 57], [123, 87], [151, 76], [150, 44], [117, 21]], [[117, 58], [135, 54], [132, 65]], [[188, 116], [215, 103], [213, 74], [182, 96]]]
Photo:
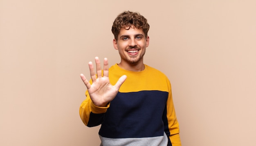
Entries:
[[85, 78], [83, 74], [80, 74], [80, 76], [81, 76], [81, 79], [83, 80], [83, 83], [88, 89], [88, 93], [94, 105], [99, 107], [106, 107], [108, 102], [112, 101], [115, 98], [119, 88], [124, 83], [127, 76], [126, 75], [121, 76], [115, 85], [111, 85], [108, 78], [108, 59], [104, 58], [103, 76], [101, 75], [102, 74], [101, 63], [98, 57], [95, 57], [95, 63], [96, 63], [96, 73], [94, 71], [92, 62], [89, 62], [92, 85]]

